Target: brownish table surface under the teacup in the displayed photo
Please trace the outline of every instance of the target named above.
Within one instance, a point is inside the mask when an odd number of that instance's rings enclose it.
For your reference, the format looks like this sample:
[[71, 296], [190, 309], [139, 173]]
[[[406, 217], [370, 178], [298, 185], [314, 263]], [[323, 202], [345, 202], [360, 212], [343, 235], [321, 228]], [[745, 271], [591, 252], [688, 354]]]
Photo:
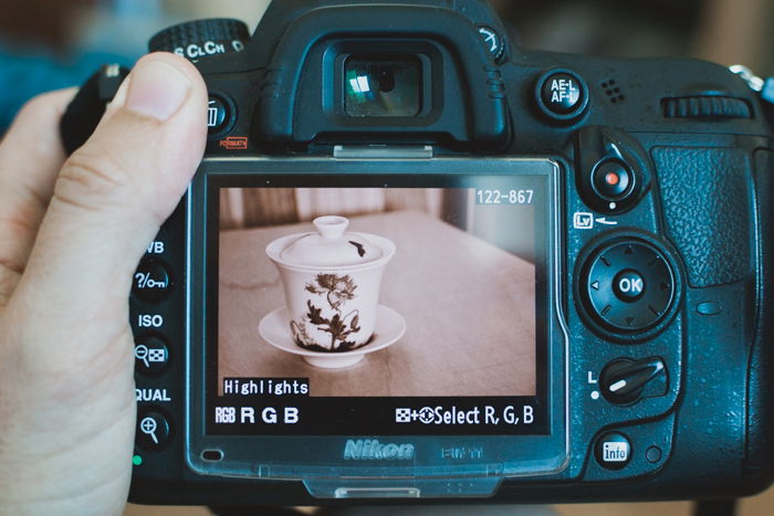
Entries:
[[285, 303], [265, 248], [311, 231], [303, 223], [221, 233], [219, 392], [226, 377], [253, 377], [308, 378], [311, 396], [535, 393], [534, 265], [418, 212], [353, 218], [348, 230], [397, 245], [380, 303], [406, 319], [400, 340], [337, 370], [263, 341], [259, 322]]

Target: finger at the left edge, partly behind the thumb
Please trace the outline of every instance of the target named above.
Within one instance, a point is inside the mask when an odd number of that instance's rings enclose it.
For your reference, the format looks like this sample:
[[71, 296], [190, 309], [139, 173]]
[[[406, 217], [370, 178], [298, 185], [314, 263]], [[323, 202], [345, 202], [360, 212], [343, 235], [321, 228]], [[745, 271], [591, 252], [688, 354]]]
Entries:
[[59, 120], [75, 89], [30, 101], [0, 145], [0, 306], [27, 265], [64, 162]]

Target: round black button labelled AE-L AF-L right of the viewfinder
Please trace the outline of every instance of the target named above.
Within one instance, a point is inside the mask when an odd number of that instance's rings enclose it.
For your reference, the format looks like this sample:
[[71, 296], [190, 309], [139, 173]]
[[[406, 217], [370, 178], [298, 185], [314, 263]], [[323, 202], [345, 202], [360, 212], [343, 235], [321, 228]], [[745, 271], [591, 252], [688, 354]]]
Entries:
[[550, 118], [571, 122], [586, 109], [588, 88], [574, 72], [553, 70], [537, 80], [535, 97], [541, 110]]

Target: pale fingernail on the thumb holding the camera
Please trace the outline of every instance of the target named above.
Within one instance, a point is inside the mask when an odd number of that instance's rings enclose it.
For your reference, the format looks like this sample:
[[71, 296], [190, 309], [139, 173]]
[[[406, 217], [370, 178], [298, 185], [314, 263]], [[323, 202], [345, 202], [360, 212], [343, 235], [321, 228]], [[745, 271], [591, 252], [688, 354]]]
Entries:
[[182, 106], [191, 83], [175, 66], [159, 61], [140, 63], [129, 75], [126, 107], [166, 120]]

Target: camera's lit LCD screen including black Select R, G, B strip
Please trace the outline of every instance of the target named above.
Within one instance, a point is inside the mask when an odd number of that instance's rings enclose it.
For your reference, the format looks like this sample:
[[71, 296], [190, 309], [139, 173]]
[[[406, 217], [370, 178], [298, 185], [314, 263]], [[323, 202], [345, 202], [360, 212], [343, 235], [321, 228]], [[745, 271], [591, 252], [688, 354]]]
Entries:
[[347, 181], [211, 188], [208, 433], [546, 433], [546, 178]]

